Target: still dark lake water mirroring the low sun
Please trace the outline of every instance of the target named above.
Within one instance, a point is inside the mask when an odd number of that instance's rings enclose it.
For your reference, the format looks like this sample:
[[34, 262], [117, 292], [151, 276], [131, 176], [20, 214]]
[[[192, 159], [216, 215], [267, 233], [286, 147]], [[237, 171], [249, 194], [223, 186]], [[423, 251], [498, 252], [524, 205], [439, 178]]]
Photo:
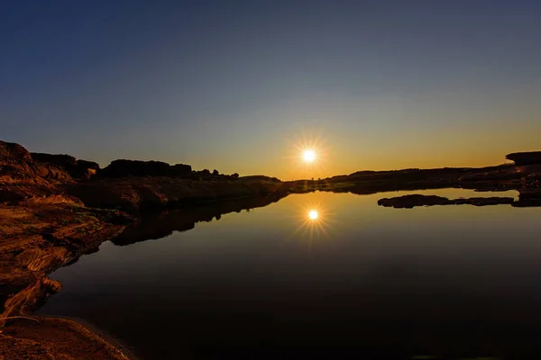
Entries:
[[533, 355], [541, 208], [377, 206], [394, 195], [289, 195], [194, 229], [216, 211], [162, 216], [55, 272], [40, 312], [143, 359]]

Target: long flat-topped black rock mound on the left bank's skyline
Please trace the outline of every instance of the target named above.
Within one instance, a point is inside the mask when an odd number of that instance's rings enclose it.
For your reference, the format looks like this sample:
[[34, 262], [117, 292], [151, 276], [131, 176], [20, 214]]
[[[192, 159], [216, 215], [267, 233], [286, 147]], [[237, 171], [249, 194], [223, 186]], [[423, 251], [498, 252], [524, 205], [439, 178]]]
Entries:
[[101, 172], [105, 177], [128, 176], [179, 176], [191, 173], [191, 166], [177, 164], [170, 166], [161, 161], [115, 160]]

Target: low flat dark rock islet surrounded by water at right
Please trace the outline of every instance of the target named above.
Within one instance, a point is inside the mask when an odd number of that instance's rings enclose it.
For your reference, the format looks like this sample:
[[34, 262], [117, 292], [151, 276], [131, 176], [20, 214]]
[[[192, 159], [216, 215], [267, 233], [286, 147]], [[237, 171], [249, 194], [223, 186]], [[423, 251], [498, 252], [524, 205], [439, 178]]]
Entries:
[[378, 201], [378, 205], [393, 207], [397, 209], [411, 209], [416, 206], [434, 206], [434, 205], [500, 205], [513, 203], [512, 197], [472, 197], [468, 199], [448, 199], [436, 195], [404, 195], [392, 198], [384, 198]]

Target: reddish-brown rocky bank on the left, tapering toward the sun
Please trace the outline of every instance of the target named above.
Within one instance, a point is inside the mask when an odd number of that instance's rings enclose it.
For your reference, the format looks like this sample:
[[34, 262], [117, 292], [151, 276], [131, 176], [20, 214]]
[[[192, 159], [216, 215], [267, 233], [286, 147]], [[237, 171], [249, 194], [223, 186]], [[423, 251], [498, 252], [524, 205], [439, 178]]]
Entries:
[[213, 173], [130, 160], [100, 169], [0, 141], [0, 358], [126, 358], [74, 321], [32, 317], [60, 291], [61, 284], [47, 276], [123, 234], [146, 211], [285, 194], [278, 179]]

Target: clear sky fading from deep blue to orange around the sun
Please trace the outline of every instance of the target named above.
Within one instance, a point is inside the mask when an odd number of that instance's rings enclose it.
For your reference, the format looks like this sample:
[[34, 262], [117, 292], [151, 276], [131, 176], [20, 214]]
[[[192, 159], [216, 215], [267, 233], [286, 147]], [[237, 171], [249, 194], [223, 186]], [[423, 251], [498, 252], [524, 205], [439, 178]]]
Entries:
[[291, 179], [494, 165], [540, 134], [540, 1], [0, 2], [0, 139], [31, 151]]

